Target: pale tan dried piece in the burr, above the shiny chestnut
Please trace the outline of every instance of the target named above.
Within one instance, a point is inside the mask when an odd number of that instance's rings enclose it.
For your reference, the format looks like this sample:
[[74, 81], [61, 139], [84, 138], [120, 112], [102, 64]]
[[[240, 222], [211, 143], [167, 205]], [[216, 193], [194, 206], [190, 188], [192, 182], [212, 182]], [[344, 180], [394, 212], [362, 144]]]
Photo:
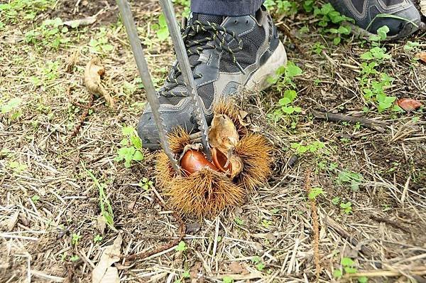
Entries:
[[209, 132], [209, 142], [224, 154], [235, 149], [239, 142], [239, 134], [234, 122], [225, 114], [215, 114], [212, 120], [212, 128]]

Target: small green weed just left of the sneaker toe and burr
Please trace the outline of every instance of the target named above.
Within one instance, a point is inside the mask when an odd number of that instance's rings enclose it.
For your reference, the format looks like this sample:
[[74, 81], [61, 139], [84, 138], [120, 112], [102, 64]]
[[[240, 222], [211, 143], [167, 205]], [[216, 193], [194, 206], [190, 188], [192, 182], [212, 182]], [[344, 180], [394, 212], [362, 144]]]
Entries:
[[123, 127], [121, 133], [124, 136], [120, 142], [123, 147], [117, 150], [117, 156], [114, 160], [118, 162], [124, 160], [124, 166], [129, 168], [131, 161], [143, 160], [142, 142], [133, 127]]

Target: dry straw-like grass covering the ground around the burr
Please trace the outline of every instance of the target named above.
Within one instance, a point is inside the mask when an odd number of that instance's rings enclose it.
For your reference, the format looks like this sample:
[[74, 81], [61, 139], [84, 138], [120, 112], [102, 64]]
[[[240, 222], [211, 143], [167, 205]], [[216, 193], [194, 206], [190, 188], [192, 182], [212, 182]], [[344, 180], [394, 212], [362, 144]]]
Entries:
[[[143, 27], [141, 37], [153, 38], [157, 2], [141, 1], [134, 7]], [[154, 250], [180, 235], [173, 212], [155, 201], [163, 199], [156, 186], [145, 190], [139, 185], [143, 177], [152, 179], [155, 154], [144, 152], [145, 159], [129, 169], [114, 161], [123, 138], [121, 127], [136, 125], [143, 110], [139, 102], [145, 101], [143, 89], [129, 87], [138, 85], [136, 66], [124, 29], [116, 23], [114, 1], [89, 1], [75, 8], [75, 1], [58, 1], [55, 9], [38, 14], [33, 22], [23, 19], [0, 31], [1, 104], [12, 97], [22, 99], [20, 117], [0, 114], [1, 282], [90, 281], [102, 250], [117, 233], [110, 228], [99, 230], [99, 191], [82, 164], [105, 186], [114, 227], [123, 235], [123, 255]], [[72, 41], [58, 50], [36, 48], [23, 40], [23, 34], [45, 18], [65, 20], [98, 12], [97, 23], [72, 29]], [[364, 275], [371, 282], [425, 281], [425, 110], [365, 114], [386, 122], [383, 134], [313, 119], [310, 109], [364, 115], [356, 76], [359, 55], [366, 47], [349, 38], [337, 47], [328, 46], [327, 57], [311, 54], [312, 42], [327, 46], [313, 27], [309, 34], [296, 32], [305, 24], [311, 28], [312, 21], [304, 14], [277, 21], [280, 28], [287, 26], [294, 33], [298, 48], [305, 53], [302, 57], [294, 43], [283, 37], [290, 59], [304, 70], [295, 80], [299, 95], [295, 104], [303, 112], [276, 124], [266, 123], [271, 105], [280, 98], [275, 88], [263, 95], [244, 94], [241, 102], [249, 112], [250, 130], [264, 134], [275, 146], [271, 178], [241, 199], [240, 206], [213, 220], [185, 218], [185, 252], [172, 247], [143, 260], [118, 262], [122, 281], [183, 281], [185, 271], [193, 282], [222, 282], [224, 276], [234, 282], [315, 281], [314, 229], [304, 188], [307, 170], [312, 171], [312, 187], [321, 186], [325, 192], [316, 202], [320, 282], [334, 280], [333, 270], [341, 268], [342, 257], [354, 259], [358, 269], [356, 274], [344, 275], [342, 282], [356, 282], [354, 276]], [[105, 28], [104, 37], [113, 50], [89, 47], [91, 38], [99, 39], [99, 28]], [[424, 33], [410, 41], [425, 49]], [[165, 78], [173, 55], [170, 43], [144, 44], [153, 76]], [[384, 68], [395, 78], [388, 91], [425, 104], [426, 65], [413, 62], [413, 53], [403, 50], [404, 44], [387, 46], [393, 59]], [[75, 52], [78, 60], [68, 72], [67, 63]], [[106, 68], [102, 82], [116, 106], [111, 109], [102, 97], [95, 97], [80, 131], [68, 142], [85, 110], [83, 105], [90, 101], [82, 78], [93, 55]], [[70, 87], [72, 91], [67, 92]], [[325, 148], [295, 161], [290, 144], [315, 141], [322, 141]], [[337, 168], [329, 169], [330, 164]], [[345, 170], [362, 174], [359, 191], [337, 183]], [[352, 213], [345, 214], [334, 205], [336, 197], [350, 201]], [[73, 243], [73, 235], [80, 235], [80, 240]], [[102, 235], [100, 242], [94, 241], [96, 235]]]

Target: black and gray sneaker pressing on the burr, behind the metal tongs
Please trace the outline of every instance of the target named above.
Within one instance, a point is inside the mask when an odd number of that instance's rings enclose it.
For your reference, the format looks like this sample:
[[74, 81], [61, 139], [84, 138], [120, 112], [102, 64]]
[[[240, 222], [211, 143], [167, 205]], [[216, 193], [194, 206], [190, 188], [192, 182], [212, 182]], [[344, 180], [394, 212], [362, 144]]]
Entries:
[[[192, 14], [182, 30], [208, 123], [214, 102], [235, 94], [240, 87], [265, 89], [270, 85], [267, 78], [287, 63], [283, 43], [264, 7], [251, 16]], [[193, 105], [177, 63], [173, 64], [158, 97], [168, 131], [177, 126], [188, 132], [197, 130]], [[149, 106], [139, 121], [138, 134], [144, 147], [158, 148], [158, 129]]]

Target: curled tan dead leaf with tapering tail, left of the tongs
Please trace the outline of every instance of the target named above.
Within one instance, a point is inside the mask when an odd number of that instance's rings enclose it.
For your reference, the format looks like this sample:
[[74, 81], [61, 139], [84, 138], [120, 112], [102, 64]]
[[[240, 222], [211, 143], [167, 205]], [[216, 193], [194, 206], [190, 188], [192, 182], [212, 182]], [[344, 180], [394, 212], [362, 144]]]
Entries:
[[101, 65], [101, 60], [97, 57], [92, 58], [84, 70], [84, 85], [90, 93], [103, 95], [109, 106], [114, 107], [114, 99], [102, 86], [101, 77], [104, 74], [105, 68]]

